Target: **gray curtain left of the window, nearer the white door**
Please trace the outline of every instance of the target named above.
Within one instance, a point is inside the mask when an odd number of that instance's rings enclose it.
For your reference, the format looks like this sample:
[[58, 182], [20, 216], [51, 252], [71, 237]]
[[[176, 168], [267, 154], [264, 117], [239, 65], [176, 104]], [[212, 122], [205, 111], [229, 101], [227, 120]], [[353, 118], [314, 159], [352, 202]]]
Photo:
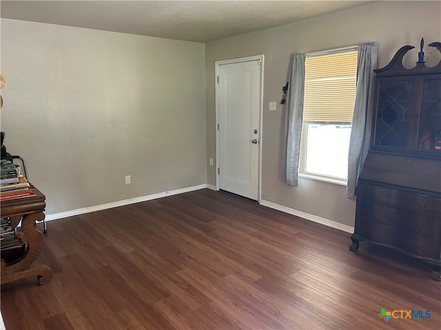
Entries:
[[302, 133], [303, 94], [305, 90], [305, 54], [294, 54], [289, 78], [285, 118], [285, 170], [283, 181], [298, 185], [298, 157]]

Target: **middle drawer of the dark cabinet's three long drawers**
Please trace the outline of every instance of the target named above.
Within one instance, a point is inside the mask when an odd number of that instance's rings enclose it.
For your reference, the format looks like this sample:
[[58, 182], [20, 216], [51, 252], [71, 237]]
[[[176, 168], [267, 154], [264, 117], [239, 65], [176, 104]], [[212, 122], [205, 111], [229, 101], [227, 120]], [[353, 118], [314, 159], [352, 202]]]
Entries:
[[416, 214], [401, 208], [392, 208], [369, 201], [357, 203], [356, 217], [395, 225], [410, 232], [440, 238], [441, 219], [425, 214]]

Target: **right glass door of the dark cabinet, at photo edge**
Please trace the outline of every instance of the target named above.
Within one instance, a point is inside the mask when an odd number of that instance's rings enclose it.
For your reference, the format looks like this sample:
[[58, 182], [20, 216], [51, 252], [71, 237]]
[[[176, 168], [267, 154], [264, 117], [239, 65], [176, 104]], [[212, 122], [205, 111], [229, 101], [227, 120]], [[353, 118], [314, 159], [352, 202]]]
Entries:
[[424, 80], [417, 148], [424, 151], [441, 151], [440, 79]]

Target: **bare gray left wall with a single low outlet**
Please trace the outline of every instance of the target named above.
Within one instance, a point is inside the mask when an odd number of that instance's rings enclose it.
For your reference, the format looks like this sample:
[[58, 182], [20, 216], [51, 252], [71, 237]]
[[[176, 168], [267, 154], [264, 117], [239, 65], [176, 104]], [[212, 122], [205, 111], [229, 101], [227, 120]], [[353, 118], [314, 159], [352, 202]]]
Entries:
[[203, 43], [1, 19], [1, 74], [48, 214], [206, 183]]

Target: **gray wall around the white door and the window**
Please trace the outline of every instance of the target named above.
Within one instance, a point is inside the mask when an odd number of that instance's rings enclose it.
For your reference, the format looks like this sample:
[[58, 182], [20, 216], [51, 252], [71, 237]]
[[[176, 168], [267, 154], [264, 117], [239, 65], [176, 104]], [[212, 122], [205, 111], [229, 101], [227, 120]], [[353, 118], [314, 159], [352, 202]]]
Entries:
[[[355, 203], [346, 198], [346, 187], [299, 179], [298, 187], [282, 182], [283, 120], [285, 107], [268, 111], [268, 102], [280, 101], [291, 68], [292, 55], [316, 52], [369, 41], [378, 42], [378, 65], [387, 65], [402, 45], [441, 41], [439, 1], [386, 1], [353, 10], [308, 19], [278, 28], [243, 34], [205, 45], [207, 107], [207, 157], [216, 156], [214, 61], [256, 54], [265, 55], [263, 94], [262, 199], [317, 217], [353, 225]], [[425, 47], [427, 64], [440, 56]], [[404, 58], [417, 61], [418, 50]], [[207, 167], [207, 182], [215, 184], [215, 168]]]

